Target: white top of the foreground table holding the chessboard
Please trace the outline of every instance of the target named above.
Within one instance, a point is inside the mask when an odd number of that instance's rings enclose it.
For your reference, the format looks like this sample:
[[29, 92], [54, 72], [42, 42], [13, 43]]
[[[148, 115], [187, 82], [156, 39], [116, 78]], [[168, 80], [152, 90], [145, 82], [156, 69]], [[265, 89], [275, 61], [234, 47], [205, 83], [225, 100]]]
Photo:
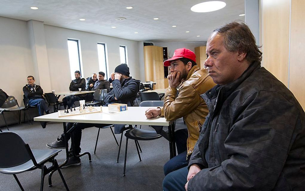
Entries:
[[[95, 107], [100, 110], [100, 107]], [[106, 113], [91, 113], [78, 116], [58, 117], [58, 113], [35, 117], [34, 121], [72, 122], [72, 123], [106, 123], [106, 124], [128, 124], [128, 125], [156, 125], [169, 126], [174, 121], [167, 121], [164, 117], [147, 119], [145, 111], [152, 107], [128, 107], [126, 111], [119, 114], [109, 115]], [[108, 111], [108, 107], [102, 107]]]

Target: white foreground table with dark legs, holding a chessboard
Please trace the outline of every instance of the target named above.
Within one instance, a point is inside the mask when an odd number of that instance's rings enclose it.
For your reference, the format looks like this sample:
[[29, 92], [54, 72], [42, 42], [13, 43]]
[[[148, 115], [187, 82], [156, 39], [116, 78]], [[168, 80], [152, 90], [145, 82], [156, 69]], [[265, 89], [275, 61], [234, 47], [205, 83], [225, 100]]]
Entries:
[[[100, 107], [95, 107], [100, 110]], [[176, 145], [174, 140], [174, 120], [167, 121], [164, 117], [157, 117], [147, 119], [145, 111], [151, 107], [128, 107], [126, 111], [119, 114], [109, 115], [106, 113], [91, 113], [78, 116], [58, 117], [58, 113], [50, 113], [44, 116], [34, 118], [34, 121], [52, 121], [63, 122], [63, 132], [66, 134], [66, 122], [71, 123], [104, 123], [104, 124], [126, 124], [126, 125], [151, 125], [151, 126], [167, 126], [170, 146], [170, 158], [176, 156]], [[102, 107], [103, 112], [108, 111], [108, 107]], [[66, 137], [66, 136], [65, 136]], [[65, 140], [66, 145], [66, 161], [59, 165], [65, 165], [69, 159], [68, 141]], [[88, 152], [86, 153], [88, 154]], [[90, 153], [89, 160], [91, 161]]]

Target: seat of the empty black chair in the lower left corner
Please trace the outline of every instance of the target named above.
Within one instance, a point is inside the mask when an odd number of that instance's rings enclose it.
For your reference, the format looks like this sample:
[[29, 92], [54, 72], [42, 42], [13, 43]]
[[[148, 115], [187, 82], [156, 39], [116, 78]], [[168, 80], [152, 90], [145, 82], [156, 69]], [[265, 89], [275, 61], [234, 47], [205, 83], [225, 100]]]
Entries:
[[[37, 163], [45, 163], [46, 159], [49, 157], [56, 156], [60, 150], [40, 150], [40, 149], [31, 149], [33, 152], [33, 155], [37, 161]], [[3, 174], [18, 174], [22, 173], [28, 170], [34, 170], [35, 165], [32, 160], [27, 161], [26, 163], [20, 164], [15, 167], [9, 167], [9, 168], [0, 168], [0, 172]]]

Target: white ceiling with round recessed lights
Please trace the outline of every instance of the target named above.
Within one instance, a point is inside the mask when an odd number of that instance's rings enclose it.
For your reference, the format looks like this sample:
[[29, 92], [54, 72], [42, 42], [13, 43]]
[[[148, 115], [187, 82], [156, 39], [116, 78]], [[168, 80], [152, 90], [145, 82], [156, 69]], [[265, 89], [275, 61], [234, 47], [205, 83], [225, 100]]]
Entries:
[[[147, 42], [203, 42], [215, 27], [232, 20], [245, 20], [244, 16], [239, 17], [245, 12], [244, 0], [221, 0], [227, 5], [209, 13], [191, 11], [193, 5], [206, 1], [0, 0], [0, 16], [40, 20], [48, 25]], [[30, 9], [31, 6], [39, 9]], [[127, 6], [133, 9], [126, 9]], [[127, 19], [116, 21], [117, 17]], [[155, 17], [160, 19], [153, 20]], [[81, 18], [86, 20], [80, 21]]]

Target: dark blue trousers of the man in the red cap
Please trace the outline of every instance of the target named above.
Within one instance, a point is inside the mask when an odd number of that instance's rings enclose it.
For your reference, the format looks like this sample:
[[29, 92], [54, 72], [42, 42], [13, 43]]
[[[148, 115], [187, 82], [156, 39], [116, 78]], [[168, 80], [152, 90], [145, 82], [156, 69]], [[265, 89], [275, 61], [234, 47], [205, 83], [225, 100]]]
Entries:
[[175, 132], [175, 141], [176, 141], [178, 155], [173, 157], [172, 159], [167, 161], [167, 163], [164, 164], [163, 170], [165, 176], [172, 171], [176, 171], [182, 167], [188, 166], [190, 157], [186, 159], [187, 139], [188, 139], [187, 129], [179, 129]]

